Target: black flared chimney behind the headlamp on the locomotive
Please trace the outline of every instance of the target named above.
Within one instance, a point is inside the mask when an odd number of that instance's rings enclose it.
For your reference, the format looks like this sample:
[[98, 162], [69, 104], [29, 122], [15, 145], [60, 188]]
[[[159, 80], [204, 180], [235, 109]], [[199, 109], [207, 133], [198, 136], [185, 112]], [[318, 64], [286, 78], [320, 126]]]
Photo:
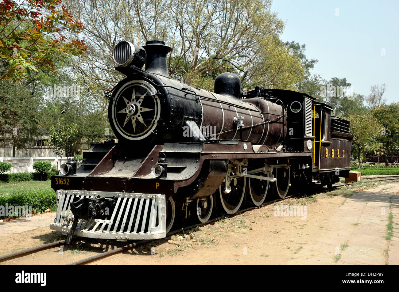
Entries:
[[163, 41], [146, 41], [143, 48], [147, 53], [145, 70], [169, 77], [166, 55], [172, 51], [172, 48]]

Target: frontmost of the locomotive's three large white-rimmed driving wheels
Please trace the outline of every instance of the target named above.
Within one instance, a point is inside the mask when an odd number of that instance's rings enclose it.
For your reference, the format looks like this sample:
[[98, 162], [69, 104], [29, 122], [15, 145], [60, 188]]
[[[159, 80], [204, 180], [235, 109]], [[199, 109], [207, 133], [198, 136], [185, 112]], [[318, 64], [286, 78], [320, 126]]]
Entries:
[[225, 183], [219, 186], [220, 202], [227, 214], [235, 214], [241, 207], [245, 194], [245, 176], [233, 178], [230, 182], [231, 191], [225, 194]]

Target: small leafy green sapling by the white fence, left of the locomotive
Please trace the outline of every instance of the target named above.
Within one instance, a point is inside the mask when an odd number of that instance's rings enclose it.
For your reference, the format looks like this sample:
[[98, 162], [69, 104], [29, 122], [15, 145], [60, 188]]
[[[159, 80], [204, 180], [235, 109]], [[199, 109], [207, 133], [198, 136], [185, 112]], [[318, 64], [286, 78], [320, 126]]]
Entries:
[[76, 143], [77, 124], [75, 123], [64, 123], [61, 120], [55, 126], [50, 126], [47, 131], [49, 139], [45, 143], [47, 146], [53, 148], [53, 151], [60, 159]]

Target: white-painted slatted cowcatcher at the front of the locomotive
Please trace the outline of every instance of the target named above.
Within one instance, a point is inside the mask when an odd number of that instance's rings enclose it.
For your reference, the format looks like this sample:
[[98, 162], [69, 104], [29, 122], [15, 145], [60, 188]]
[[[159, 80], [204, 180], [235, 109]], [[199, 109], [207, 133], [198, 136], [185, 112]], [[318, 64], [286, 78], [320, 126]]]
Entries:
[[74, 235], [117, 241], [166, 237], [164, 194], [57, 190], [57, 213], [50, 228], [67, 235], [72, 225], [68, 216], [73, 216], [70, 203], [75, 198], [93, 198], [98, 195], [115, 198], [116, 205], [112, 214], [106, 219], [79, 219]]

